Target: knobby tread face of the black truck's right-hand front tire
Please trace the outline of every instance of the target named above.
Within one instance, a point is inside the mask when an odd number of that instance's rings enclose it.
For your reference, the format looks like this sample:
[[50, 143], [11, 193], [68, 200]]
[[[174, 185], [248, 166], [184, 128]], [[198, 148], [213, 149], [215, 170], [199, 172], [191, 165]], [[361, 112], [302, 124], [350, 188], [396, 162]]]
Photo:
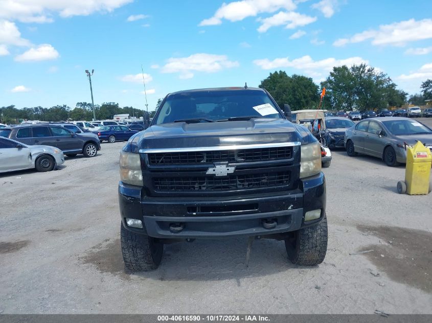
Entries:
[[297, 265], [314, 266], [322, 263], [327, 253], [327, 217], [316, 225], [299, 230], [299, 247], [291, 262]]

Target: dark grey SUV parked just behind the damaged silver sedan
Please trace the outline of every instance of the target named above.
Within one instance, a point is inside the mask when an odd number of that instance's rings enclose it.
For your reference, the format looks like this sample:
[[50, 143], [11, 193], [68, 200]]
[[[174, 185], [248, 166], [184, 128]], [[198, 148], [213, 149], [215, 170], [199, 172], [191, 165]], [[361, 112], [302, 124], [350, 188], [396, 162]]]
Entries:
[[13, 139], [27, 145], [47, 145], [58, 147], [69, 157], [83, 154], [95, 157], [101, 144], [97, 138], [81, 136], [54, 124], [19, 125], [0, 130], [0, 136]]

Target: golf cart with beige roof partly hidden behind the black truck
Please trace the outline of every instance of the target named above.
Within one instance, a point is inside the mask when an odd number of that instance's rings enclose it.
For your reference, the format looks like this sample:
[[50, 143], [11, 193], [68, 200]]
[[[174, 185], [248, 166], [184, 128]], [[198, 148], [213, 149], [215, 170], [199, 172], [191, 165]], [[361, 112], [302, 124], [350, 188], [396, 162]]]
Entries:
[[326, 120], [324, 110], [298, 110], [292, 111], [291, 120], [298, 125], [307, 128], [321, 144], [321, 165], [329, 167], [331, 163], [331, 151], [327, 147], [325, 132]]

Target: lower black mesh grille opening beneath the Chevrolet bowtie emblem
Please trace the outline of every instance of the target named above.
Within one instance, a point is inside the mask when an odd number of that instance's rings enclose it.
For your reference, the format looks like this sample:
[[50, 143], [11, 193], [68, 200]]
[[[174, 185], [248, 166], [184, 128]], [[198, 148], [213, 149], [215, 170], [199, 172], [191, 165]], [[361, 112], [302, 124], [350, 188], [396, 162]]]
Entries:
[[224, 191], [245, 188], [267, 188], [289, 185], [290, 172], [265, 172], [230, 175], [223, 178], [210, 176], [153, 178], [156, 191]]

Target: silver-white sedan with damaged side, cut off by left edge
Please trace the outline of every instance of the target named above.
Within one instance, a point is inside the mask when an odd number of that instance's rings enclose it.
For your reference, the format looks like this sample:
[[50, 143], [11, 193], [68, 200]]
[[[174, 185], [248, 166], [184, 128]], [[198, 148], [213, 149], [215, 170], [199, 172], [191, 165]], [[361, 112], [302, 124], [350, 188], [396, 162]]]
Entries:
[[19, 141], [0, 137], [0, 173], [30, 168], [50, 171], [63, 163], [63, 152], [56, 147], [28, 146]]

